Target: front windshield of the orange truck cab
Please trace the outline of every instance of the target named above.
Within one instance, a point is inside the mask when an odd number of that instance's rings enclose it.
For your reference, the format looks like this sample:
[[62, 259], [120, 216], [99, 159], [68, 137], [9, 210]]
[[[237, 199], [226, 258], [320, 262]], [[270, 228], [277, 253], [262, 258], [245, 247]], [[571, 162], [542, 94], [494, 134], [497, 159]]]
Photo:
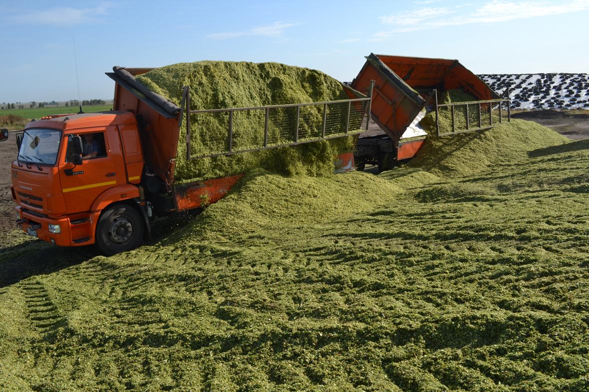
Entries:
[[58, 129], [27, 129], [22, 134], [18, 160], [41, 165], [55, 165], [61, 131]]

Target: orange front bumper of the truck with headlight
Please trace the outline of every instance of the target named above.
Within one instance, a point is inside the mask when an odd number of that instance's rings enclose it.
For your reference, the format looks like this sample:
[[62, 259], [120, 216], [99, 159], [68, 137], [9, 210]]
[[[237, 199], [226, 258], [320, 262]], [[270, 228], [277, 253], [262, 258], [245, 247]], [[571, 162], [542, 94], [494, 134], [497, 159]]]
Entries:
[[[19, 216], [17, 223], [22, 231], [62, 247], [75, 247], [94, 244], [94, 231], [100, 213], [82, 213], [67, 217], [49, 217], [32, 212], [20, 205], [15, 208]], [[49, 224], [59, 225], [61, 232], [55, 234], [49, 231]]]

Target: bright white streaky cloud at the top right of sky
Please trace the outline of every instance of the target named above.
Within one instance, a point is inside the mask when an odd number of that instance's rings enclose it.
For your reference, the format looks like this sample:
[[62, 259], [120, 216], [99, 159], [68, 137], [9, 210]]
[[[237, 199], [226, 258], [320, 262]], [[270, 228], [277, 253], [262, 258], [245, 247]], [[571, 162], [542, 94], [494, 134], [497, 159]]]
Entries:
[[444, 26], [458, 26], [474, 23], [497, 23], [537, 16], [569, 14], [589, 9], [589, 0], [573, 0], [561, 4], [547, 2], [510, 2], [493, 0], [472, 12], [458, 14], [456, 9], [420, 8], [399, 14], [381, 16], [380, 22], [392, 25], [388, 31], [377, 32], [370, 41], [380, 41], [388, 36]]

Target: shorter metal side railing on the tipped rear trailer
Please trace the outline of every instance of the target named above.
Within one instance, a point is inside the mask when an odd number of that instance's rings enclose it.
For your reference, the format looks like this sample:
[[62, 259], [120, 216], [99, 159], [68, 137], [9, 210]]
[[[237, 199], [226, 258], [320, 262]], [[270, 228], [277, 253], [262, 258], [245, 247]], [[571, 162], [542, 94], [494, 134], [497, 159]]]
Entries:
[[[509, 90], [506, 91], [509, 97]], [[482, 101], [454, 102], [451, 104], [438, 104], [438, 91], [434, 91], [436, 109], [436, 134], [438, 137], [454, 135], [462, 132], [485, 131], [503, 122], [503, 105], [507, 102], [507, 121], [511, 122], [511, 99], [486, 99]], [[440, 133], [439, 118], [441, 108], [447, 111], [452, 121], [452, 132]], [[498, 109], [497, 121], [493, 120], [493, 111]]]

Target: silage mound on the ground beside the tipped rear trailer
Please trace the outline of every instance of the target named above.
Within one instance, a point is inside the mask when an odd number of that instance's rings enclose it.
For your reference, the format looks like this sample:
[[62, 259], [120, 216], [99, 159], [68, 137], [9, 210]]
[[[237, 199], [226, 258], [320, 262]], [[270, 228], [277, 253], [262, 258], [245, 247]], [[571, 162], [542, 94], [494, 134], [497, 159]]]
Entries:
[[482, 132], [429, 136], [408, 166], [442, 176], [462, 176], [493, 165], [525, 161], [528, 152], [568, 139], [532, 121], [512, 119]]

